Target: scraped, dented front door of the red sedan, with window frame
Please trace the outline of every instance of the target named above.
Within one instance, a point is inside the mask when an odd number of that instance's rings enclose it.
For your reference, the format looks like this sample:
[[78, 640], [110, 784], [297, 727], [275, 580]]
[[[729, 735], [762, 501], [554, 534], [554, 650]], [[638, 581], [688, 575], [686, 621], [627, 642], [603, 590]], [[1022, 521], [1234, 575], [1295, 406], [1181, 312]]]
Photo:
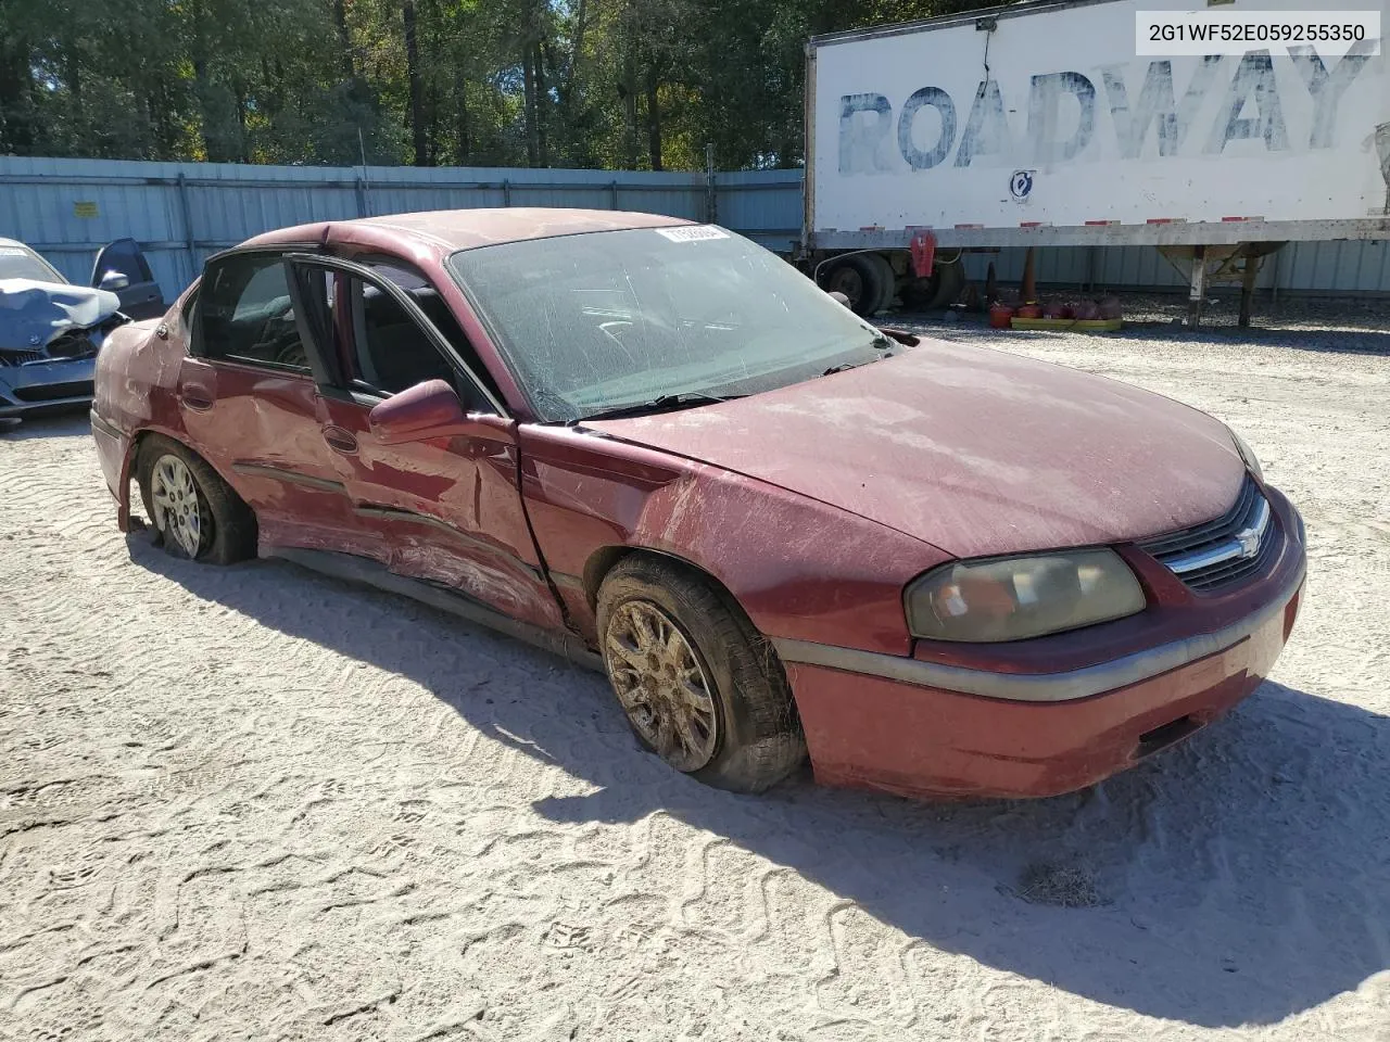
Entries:
[[[334, 340], [341, 368], [321, 388], [320, 424], [354, 513], [381, 536], [388, 567], [525, 622], [562, 624], [518, 490], [516, 422], [468, 364], [471, 350], [438, 292], [410, 268], [304, 261], [335, 272]], [[385, 445], [371, 408], [443, 379], [495, 438]]]

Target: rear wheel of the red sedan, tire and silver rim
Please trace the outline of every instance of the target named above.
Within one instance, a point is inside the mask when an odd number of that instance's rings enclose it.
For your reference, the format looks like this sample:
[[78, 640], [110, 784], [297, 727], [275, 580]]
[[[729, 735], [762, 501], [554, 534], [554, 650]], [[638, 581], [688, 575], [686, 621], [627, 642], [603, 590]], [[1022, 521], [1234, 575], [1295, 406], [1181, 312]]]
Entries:
[[165, 553], [207, 564], [256, 556], [256, 514], [192, 449], [149, 435], [135, 465], [154, 542]]

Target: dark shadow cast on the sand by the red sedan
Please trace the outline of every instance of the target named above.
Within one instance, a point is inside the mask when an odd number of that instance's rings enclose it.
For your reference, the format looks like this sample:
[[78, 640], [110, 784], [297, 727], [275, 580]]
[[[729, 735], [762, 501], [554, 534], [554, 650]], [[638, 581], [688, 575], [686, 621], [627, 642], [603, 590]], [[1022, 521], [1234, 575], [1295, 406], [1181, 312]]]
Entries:
[[[1280, 1021], [1390, 967], [1390, 720], [1354, 706], [1266, 684], [1183, 747], [1051, 800], [922, 804], [806, 778], [735, 796], [642, 753], [603, 679], [541, 652], [288, 564], [206, 568], [143, 534], [129, 549], [199, 597], [409, 677], [598, 786], [538, 800], [546, 818], [662, 811], [999, 970], [1222, 1027]], [[384, 622], [411, 639], [382, 640]], [[523, 696], [550, 670], [542, 686], [563, 686], [564, 706]]]

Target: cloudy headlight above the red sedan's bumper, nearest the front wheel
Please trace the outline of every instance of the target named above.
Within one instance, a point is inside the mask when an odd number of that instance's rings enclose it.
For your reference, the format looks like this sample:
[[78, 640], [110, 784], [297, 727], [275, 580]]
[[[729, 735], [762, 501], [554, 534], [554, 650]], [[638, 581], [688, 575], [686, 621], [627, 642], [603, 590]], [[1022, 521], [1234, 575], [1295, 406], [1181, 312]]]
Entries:
[[956, 561], [908, 586], [908, 628], [935, 640], [1022, 640], [1144, 610], [1113, 550]]

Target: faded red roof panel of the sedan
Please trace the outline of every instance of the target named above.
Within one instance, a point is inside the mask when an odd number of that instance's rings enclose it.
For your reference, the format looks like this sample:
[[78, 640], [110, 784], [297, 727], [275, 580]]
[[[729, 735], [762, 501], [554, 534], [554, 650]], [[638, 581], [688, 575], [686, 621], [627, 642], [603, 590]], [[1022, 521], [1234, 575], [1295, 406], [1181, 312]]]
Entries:
[[432, 247], [438, 253], [453, 253], [478, 246], [550, 239], [560, 235], [613, 232], [630, 228], [670, 228], [694, 224], [680, 217], [635, 214], [621, 210], [570, 210], [559, 207], [506, 207], [492, 210], [431, 210], [413, 214], [385, 214], [350, 221], [321, 221], [318, 224], [281, 228], [257, 235], [245, 246], [274, 246], [278, 243], [363, 242], [381, 245], [395, 240], [400, 245]]

